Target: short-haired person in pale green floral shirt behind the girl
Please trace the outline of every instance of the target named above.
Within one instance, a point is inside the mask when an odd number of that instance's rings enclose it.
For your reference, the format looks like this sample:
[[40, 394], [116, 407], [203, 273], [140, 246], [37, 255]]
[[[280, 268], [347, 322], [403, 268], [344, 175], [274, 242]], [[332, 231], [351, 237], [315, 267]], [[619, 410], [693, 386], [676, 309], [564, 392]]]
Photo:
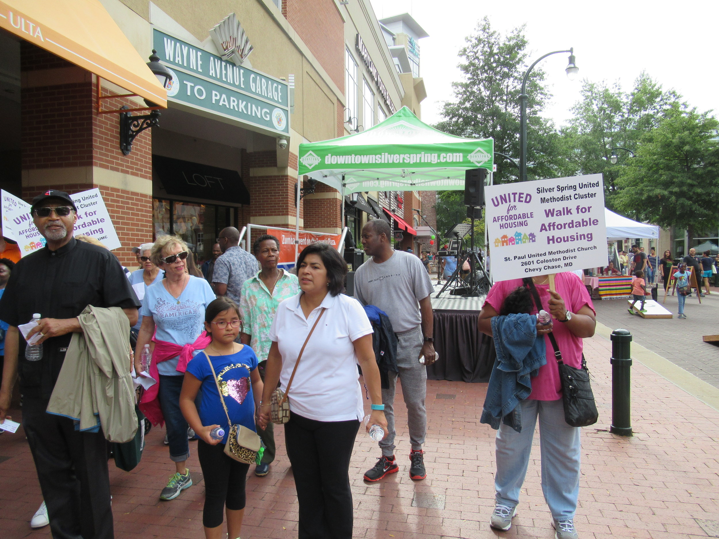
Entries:
[[[242, 285], [239, 309], [242, 312], [242, 344], [249, 344], [260, 360], [260, 376], [264, 381], [265, 362], [270, 351], [270, 326], [275, 319], [275, 310], [280, 301], [299, 293], [296, 275], [280, 270], [280, 241], [275, 236], [265, 234], [252, 244], [252, 253], [260, 262], [262, 270], [250, 277]], [[255, 475], [265, 476], [270, 464], [275, 460], [275, 434], [273, 423], [267, 423], [265, 430], [257, 430], [265, 443], [262, 462], [255, 468]]]

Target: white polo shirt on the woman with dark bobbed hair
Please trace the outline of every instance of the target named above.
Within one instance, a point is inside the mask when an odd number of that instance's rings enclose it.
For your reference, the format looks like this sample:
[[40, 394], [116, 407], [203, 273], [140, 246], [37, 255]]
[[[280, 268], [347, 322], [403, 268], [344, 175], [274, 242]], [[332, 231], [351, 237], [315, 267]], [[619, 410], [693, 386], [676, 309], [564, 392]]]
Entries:
[[305, 318], [298, 295], [278, 305], [270, 339], [282, 356], [280, 382], [287, 387], [305, 339], [321, 308], [326, 308], [307, 343], [290, 386], [290, 410], [317, 421], [362, 420], [357, 355], [353, 341], [372, 333], [372, 324], [354, 298], [327, 294]]

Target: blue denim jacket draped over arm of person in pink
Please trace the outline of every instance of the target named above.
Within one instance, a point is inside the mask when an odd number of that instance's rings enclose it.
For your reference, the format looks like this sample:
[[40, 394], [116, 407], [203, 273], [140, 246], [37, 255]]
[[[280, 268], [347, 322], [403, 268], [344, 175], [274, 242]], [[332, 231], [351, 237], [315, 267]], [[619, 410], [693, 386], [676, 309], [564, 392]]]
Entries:
[[497, 359], [487, 387], [480, 423], [499, 428], [500, 420], [522, 430], [518, 404], [532, 391], [531, 377], [546, 364], [544, 337], [537, 338], [536, 316], [510, 314], [492, 318]]

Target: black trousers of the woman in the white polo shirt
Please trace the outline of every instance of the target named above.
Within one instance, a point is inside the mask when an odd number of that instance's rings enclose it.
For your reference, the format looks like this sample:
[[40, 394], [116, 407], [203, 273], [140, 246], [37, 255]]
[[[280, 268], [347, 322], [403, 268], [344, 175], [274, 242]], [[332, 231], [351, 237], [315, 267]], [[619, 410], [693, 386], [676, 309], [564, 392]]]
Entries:
[[352, 539], [349, 459], [359, 421], [316, 421], [290, 413], [285, 444], [300, 505], [298, 539]]

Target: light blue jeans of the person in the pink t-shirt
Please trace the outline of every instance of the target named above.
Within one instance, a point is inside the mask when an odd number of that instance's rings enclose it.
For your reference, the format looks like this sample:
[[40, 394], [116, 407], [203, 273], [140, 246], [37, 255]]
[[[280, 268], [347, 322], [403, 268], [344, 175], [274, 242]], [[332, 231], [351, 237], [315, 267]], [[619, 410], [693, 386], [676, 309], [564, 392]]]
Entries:
[[521, 402], [522, 432], [502, 423], [495, 440], [497, 474], [495, 499], [498, 504], [515, 507], [524, 482], [532, 448], [534, 426], [539, 415], [541, 488], [551, 516], [557, 520], [574, 518], [580, 493], [580, 428], [564, 421], [564, 405], [559, 400]]

